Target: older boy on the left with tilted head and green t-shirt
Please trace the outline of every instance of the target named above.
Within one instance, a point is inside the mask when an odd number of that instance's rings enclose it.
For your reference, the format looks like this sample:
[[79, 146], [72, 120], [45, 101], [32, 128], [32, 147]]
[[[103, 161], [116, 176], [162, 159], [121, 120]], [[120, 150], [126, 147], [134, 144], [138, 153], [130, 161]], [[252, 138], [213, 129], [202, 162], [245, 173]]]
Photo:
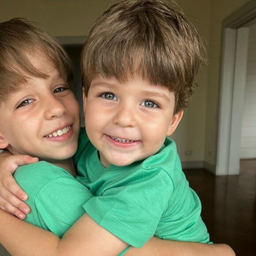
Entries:
[[15, 173], [30, 195], [26, 221], [60, 237], [92, 197], [75, 180], [80, 120], [71, 80], [71, 61], [56, 40], [22, 19], [0, 23], [0, 148], [39, 158]]

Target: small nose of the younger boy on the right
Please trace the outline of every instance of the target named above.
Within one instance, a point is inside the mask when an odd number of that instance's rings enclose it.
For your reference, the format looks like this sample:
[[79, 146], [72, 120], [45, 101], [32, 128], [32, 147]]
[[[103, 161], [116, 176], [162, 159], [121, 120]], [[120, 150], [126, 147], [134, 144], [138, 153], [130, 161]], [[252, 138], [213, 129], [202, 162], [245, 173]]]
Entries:
[[134, 127], [136, 124], [136, 111], [128, 104], [119, 103], [113, 116], [113, 123], [121, 127]]

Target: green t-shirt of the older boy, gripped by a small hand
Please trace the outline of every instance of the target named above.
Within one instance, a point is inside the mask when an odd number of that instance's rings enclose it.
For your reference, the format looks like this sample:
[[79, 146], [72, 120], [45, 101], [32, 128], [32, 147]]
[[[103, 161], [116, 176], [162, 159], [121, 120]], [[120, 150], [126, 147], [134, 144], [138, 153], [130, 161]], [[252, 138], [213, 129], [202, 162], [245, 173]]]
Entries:
[[70, 173], [45, 161], [20, 166], [14, 177], [28, 194], [26, 222], [59, 237], [85, 213], [82, 205], [92, 197]]

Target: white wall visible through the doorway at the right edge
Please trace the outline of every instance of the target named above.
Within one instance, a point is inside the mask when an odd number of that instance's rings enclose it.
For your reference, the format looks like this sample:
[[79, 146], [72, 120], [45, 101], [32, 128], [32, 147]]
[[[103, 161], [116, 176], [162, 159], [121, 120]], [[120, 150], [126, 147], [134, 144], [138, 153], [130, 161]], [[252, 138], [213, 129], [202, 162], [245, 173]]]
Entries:
[[240, 158], [256, 158], [256, 24], [249, 28]]

